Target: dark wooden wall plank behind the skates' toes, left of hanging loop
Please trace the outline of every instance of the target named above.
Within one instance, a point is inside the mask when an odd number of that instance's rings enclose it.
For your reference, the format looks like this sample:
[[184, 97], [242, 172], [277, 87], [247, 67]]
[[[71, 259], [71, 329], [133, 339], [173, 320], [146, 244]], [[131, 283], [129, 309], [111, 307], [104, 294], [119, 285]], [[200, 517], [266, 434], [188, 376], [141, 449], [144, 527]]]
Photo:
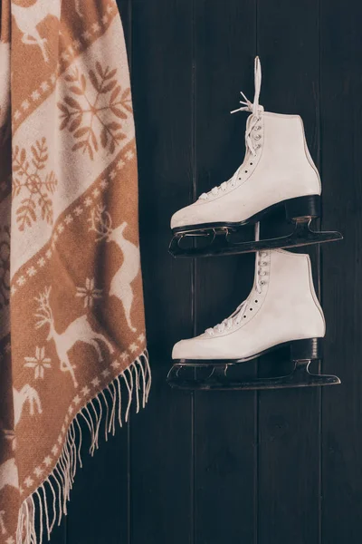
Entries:
[[[195, 192], [228, 180], [243, 161], [253, 94], [255, 1], [195, 3]], [[247, 21], [247, 24], [243, 24]], [[253, 257], [195, 262], [195, 333], [229, 316], [252, 287]], [[253, 364], [251, 367], [253, 369]], [[195, 543], [253, 541], [255, 394], [195, 394]]]

